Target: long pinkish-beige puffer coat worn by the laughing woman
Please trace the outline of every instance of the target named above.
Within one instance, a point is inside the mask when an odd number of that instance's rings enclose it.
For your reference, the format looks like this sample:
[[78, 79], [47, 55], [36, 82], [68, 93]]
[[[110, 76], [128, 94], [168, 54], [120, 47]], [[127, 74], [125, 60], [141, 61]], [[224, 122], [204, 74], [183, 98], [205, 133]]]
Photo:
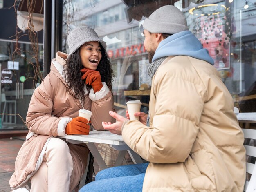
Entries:
[[[67, 54], [57, 52], [56, 58], [52, 60], [50, 73], [33, 93], [26, 118], [29, 133], [18, 153], [15, 171], [9, 181], [12, 189], [22, 187], [36, 173], [49, 139], [52, 136], [64, 136], [67, 123], [78, 116], [79, 109], [92, 111], [92, 126], [96, 130], [103, 130], [102, 121], [115, 122], [108, 114], [113, 110], [114, 102], [106, 83], [103, 82], [103, 88], [95, 94], [93, 89], [88, 93], [85, 87], [83, 105], [80, 100], [67, 94], [62, 73], [66, 59]], [[74, 162], [82, 162], [80, 169], [85, 170], [88, 155], [86, 145], [69, 144], [69, 147]]]

